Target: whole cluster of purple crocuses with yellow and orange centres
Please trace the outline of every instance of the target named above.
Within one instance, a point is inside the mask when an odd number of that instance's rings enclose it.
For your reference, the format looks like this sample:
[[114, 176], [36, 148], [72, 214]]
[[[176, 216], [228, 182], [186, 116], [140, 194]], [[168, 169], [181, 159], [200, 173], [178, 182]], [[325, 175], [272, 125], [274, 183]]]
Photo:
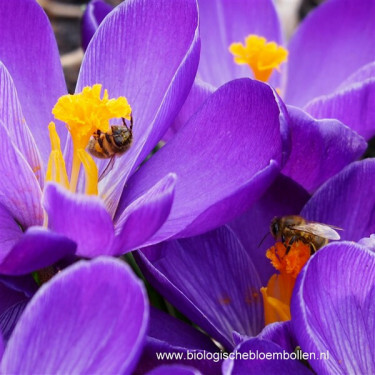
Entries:
[[[236, 352], [328, 351], [326, 361], [309, 360], [317, 372], [371, 372], [365, 333], [374, 327], [363, 316], [373, 303], [373, 239], [295, 257], [286, 297], [275, 295], [276, 283], [271, 293], [275, 271], [264, 250], [272, 239], [257, 248], [272, 217], [285, 214], [342, 227], [344, 240], [375, 230], [375, 164], [353, 163], [375, 134], [366, 105], [375, 87], [375, 2], [342, 2], [329, 0], [304, 21], [288, 53], [268, 0], [135, 0], [112, 12], [94, 0], [74, 95], [39, 6], [0, 2], [4, 373], [311, 372], [279, 360], [185, 359], [158, 368], [157, 352], [218, 353], [210, 337]], [[35, 25], [38, 38], [27, 32]], [[273, 71], [286, 59], [287, 80]], [[255, 80], [241, 78], [249, 67]], [[121, 118], [134, 120], [133, 143], [109, 168], [86, 149]], [[161, 139], [166, 145], [143, 163]], [[138, 248], [148, 281], [209, 337], [149, 313], [143, 287], [120, 261], [59, 272], [77, 257]], [[39, 283], [52, 279], [28, 302], [30, 272]], [[263, 329], [276, 320], [284, 322]]]

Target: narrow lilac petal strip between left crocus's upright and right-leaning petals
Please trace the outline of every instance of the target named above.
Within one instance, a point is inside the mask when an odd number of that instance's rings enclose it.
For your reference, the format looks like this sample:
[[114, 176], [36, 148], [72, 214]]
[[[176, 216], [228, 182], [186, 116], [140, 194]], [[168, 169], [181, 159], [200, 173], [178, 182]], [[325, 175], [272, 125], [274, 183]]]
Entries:
[[196, 79], [180, 112], [175, 118], [173, 124], [164, 134], [163, 140], [168, 142], [174, 137], [174, 135], [188, 122], [190, 117], [197, 112], [199, 107], [213, 92], [214, 88], [211, 85], [200, 79]]

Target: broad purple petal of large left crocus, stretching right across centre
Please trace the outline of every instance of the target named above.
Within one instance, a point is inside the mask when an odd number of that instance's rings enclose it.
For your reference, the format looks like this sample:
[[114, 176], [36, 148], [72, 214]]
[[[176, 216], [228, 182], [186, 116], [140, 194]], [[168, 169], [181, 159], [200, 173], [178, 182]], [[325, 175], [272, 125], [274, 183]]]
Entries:
[[172, 211], [153, 243], [222, 225], [244, 212], [276, 177], [287, 133], [285, 113], [268, 85], [229, 82], [131, 178], [119, 211], [173, 171], [178, 180]]

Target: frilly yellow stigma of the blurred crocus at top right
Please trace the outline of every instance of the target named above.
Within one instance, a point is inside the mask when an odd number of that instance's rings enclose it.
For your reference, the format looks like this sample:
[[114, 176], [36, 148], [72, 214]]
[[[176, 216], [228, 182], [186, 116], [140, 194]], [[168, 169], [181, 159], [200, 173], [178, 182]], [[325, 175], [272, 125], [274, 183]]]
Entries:
[[249, 35], [245, 44], [232, 43], [229, 51], [234, 55], [237, 64], [247, 64], [258, 81], [267, 82], [274, 69], [287, 60], [288, 51], [275, 42], [258, 35]]

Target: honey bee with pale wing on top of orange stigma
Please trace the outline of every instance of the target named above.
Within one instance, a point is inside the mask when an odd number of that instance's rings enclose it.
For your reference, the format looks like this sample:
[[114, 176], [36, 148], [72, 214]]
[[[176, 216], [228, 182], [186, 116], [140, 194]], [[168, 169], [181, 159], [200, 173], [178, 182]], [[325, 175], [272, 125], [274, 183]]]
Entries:
[[286, 246], [286, 253], [294, 242], [302, 241], [310, 246], [311, 254], [326, 245], [329, 240], [339, 240], [340, 235], [336, 230], [342, 230], [332, 225], [308, 221], [297, 215], [273, 218], [270, 229], [275, 240], [281, 240]]

